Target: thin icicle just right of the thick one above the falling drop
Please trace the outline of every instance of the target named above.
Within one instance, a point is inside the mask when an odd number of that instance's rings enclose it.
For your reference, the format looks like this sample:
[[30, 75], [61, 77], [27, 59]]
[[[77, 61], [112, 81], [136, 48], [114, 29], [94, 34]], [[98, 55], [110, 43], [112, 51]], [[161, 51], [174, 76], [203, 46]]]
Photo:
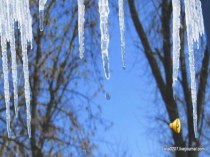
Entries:
[[118, 0], [119, 5], [119, 24], [120, 24], [120, 38], [121, 38], [121, 55], [122, 64], [125, 69], [125, 22], [124, 22], [124, 0]]

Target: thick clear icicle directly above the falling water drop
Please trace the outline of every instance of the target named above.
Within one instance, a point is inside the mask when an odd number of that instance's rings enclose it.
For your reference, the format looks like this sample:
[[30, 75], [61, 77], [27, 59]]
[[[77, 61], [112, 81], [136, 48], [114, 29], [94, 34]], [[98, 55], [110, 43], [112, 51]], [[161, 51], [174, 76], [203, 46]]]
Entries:
[[108, 15], [109, 15], [109, 3], [108, 0], [99, 0], [99, 13], [100, 13], [100, 29], [101, 29], [101, 53], [103, 66], [106, 79], [110, 78], [109, 71], [109, 30], [108, 30]]

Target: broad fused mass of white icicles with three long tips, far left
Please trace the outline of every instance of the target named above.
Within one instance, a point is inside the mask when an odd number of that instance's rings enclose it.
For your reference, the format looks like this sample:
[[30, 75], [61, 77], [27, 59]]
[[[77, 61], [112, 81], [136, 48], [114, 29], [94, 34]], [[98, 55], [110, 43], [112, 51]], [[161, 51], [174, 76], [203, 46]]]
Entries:
[[12, 78], [14, 91], [14, 106], [16, 116], [18, 115], [18, 92], [17, 92], [17, 63], [16, 63], [16, 48], [15, 48], [15, 22], [18, 23], [18, 29], [21, 33], [21, 48], [23, 57], [23, 70], [25, 78], [25, 102], [27, 108], [27, 128], [30, 132], [30, 86], [29, 86], [29, 71], [27, 44], [32, 45], [32, 17], [29, 10], [28, 0], [0, 0], [0, 36], [1, 36], [1, 51], [2, 51], [2, 67], [4, 73], [4, 95], [6, 104], [6, 121], [8, 136], [11, 137], [10, 129], [10, 91], [9, 91], [9, 68], [7, 56], [7, 42], [10, 45], [11, 60], [12, 60]]

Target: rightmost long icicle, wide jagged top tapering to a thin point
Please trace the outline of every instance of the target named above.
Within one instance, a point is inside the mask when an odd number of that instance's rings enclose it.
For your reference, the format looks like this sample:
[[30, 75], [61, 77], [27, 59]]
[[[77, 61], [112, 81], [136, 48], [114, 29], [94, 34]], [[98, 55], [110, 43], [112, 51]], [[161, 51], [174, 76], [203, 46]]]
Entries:
[[185, 0], [185, 14], [187, 26], [187, 39], [190, 64], [191, 96], [193, 106], [193, 124], [195, 137], [198, 137], [197, 131], [197, 97], [196, 97], [196, 79], [194, 65], [194, 42], [198, 42], [200, 36], [204, 34], [203, 15], [200, 0]]

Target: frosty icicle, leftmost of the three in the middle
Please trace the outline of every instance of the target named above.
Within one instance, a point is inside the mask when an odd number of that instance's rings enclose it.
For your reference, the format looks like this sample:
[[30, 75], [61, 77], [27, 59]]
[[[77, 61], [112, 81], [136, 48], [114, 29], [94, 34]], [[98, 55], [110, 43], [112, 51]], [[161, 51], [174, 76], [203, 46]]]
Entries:
[[78, 1], [78, 33], [79, 33], [79, 56], [84, 57], [84, 23], [85, 23], [85, 5], [84, 0]]

